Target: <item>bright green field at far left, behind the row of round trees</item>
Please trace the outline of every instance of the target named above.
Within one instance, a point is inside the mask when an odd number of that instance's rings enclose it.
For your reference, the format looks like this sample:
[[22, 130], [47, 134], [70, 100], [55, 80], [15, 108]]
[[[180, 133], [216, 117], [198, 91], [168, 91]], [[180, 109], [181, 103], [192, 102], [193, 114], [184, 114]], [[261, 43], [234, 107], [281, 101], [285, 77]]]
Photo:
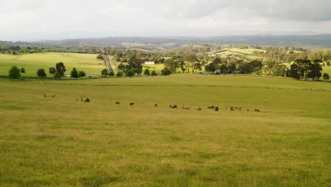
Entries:
[[[37, 69], [44, 68], [48, 74], [50, 67], [55, 67], [57, 62], [64, 62], [66, 74], [70, 74], [71, 69], [76, 67], [86, 74], [101, 74], [105, 68], [102, 61], [96, 60], [96, 55], [46, 52], [28, 55], [0, 55], [0, 75], [8, 75], [8, 70], [16, 65], [18, 68], [25, 68], [26, 73], [22, 76], [36, 77]], [[48, 75], [52, 77], [52, 75]]]

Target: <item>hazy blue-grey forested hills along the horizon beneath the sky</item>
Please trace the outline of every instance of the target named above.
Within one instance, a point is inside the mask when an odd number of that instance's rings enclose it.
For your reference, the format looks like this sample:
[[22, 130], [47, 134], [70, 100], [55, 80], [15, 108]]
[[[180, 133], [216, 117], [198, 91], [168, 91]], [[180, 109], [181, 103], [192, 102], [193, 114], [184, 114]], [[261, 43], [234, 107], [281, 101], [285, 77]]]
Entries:
[[108, 37], [81, 38], [68, 40], [42, 40], [37, 42], [11, 42], [11, 45], [94, 45], [115, 46], [123, 48], [141, 48], [146, 50], [163, 50], [182, 45], [194, 44], [214, 45], [270, 45], [298, 46], [313, 48], [331, 48], [331, 34], [327, 35], [238, 35], [216, 37]]

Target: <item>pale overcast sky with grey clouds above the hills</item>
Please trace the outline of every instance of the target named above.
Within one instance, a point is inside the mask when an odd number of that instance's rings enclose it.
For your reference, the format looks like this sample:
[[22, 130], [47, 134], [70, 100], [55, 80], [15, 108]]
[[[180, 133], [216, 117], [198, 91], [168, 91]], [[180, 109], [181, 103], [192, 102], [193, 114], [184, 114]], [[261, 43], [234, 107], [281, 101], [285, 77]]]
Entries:
[[331, 0], [0, 0], [0, 40], [331, 33]]

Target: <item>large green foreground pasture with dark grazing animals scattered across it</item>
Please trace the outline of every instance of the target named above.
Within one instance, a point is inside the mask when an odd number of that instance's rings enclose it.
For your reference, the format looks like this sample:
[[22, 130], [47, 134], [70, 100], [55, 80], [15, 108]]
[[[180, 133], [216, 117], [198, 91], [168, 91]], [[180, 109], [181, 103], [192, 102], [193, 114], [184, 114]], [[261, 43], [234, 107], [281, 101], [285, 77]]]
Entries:
[[331, 184], [329, 82], [174, 74], [0, 86], [0, 186]]

